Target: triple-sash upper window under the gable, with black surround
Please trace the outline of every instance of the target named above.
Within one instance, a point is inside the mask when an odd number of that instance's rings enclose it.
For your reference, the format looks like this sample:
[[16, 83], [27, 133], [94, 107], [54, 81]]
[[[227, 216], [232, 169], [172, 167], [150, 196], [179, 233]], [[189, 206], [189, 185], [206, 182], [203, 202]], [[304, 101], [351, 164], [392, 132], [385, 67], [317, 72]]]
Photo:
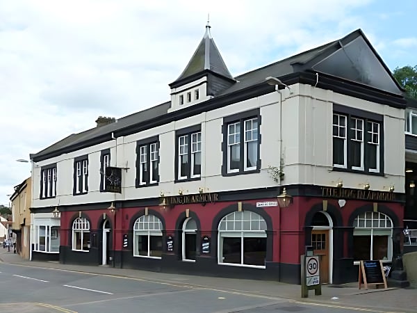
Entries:
[[334, 168], [383, 172], [382, 125], [382, 115], [334, 105]]

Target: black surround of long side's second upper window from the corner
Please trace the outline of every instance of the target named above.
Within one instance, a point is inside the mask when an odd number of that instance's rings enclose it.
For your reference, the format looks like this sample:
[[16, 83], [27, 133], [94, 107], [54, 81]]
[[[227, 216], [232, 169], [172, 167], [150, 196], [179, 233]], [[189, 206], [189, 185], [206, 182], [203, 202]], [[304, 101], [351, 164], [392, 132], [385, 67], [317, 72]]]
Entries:
[[[177, 131], [175, 131], [175, 164], [174, 164], [174, 175], [175, 175], [175, 179], [174, 182], [191, 182], [191, 181], [195, 181], [195, 180], [200, 180], [201, 179], [201, 175], [198, 175], [198, 177], [196, 177], [196, 175], [193, 177], [192, 173], [191, 173], [191, 167], [193, 166], [192, 164], [192, 142], [191, 142], [191, 137], [193, 134], [197, 134], [197, 133], [201, 133], [202, 131], [202, 125], [194, 125], [194, 126], [190, 126], [190, 127], [186, 127], [183, 129], [178, 129]], [[182, 136], [186, 136], [186, 142], [185, 144], [187, 145], [187, 164], [188, 167], [186, 168], [186, 175], [184, 177], [179, 177], [180, 172], [179, 172], [179, 161], [180, 161], [180, 157], [179, 157], [179, 138]], [[200, 137], [201, 138], [201, 137]], [[200, 150], [201, 153], [201, 150]], [[202, 157], [200, 157], [200, 161], [202, 162]]]

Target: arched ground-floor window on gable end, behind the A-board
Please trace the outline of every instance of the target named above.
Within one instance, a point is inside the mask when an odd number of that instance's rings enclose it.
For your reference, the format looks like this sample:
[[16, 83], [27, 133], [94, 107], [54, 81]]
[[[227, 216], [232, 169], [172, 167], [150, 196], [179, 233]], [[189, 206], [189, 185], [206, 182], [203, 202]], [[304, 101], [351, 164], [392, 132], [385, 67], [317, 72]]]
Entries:
[[353, 222], [353, 257], [361, 259], [392, 259], [393, 223], [379, 212], [359, 214]]

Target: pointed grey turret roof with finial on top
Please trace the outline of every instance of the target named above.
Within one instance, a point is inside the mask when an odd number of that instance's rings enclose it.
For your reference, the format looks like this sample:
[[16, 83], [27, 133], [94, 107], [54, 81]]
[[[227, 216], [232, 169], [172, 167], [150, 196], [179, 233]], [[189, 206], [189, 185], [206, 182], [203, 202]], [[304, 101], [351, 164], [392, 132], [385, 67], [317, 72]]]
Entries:
[[190, 62], [188, 62], [186, 69], [183, 70], [181, 75], [179, 75], [179, 77], [170, 85], [186, 79], [187, 77], [202, 73], [205, 70], [220, 74], [220, 76], [228, 79], [234, 79], [215, 45], [213, 37], [211, 37], [210, 29], [211, 26], [207, 22], [206, 33], [204, 33], [204, 37], [195, 50]]

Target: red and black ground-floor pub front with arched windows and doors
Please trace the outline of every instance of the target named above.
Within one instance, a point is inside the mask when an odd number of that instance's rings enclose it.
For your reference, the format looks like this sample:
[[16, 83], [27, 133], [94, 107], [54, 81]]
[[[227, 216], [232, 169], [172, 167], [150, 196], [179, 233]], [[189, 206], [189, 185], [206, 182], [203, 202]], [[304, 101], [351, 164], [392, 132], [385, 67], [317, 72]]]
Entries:
[[394, 193], [349, 189], [340, 197], [341, 190], [328, 187], [288, 188], [288, 207], [277, 197], [224, 201], [204, 193], [149, 206], [68, 208], [61, 214], [60, 262], [299, 284], [300, 255], [313, 246], [322, 282], [338, 284], [357, 280], [360, 259], [395, 256], [402, 205]]

